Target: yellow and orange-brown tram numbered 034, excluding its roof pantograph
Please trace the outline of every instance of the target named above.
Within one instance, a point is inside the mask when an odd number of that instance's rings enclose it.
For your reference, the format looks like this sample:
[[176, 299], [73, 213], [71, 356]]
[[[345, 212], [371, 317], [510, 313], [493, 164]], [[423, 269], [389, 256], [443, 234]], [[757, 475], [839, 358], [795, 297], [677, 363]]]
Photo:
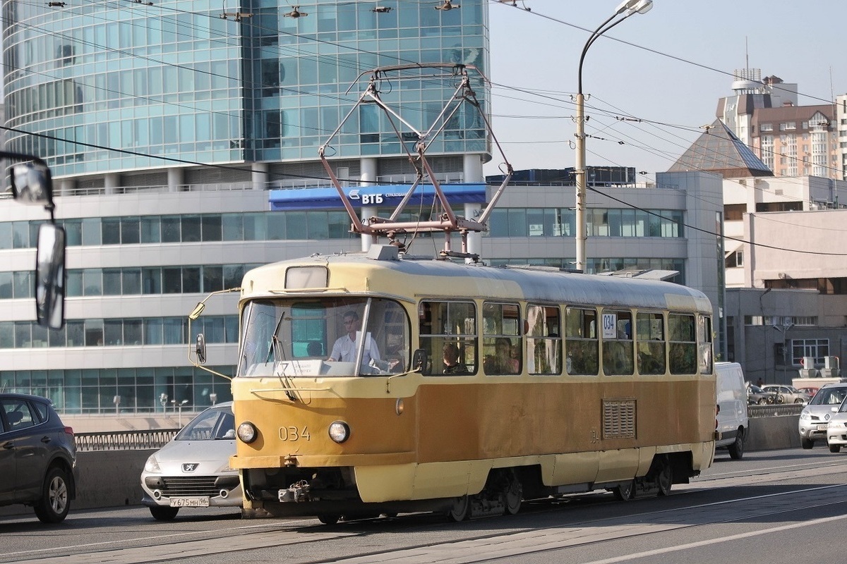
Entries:
[[414, 260], [246, 273], [232, 381], [245, 515], [454, 520], [711, 465], [711, 305], [669, 282]]

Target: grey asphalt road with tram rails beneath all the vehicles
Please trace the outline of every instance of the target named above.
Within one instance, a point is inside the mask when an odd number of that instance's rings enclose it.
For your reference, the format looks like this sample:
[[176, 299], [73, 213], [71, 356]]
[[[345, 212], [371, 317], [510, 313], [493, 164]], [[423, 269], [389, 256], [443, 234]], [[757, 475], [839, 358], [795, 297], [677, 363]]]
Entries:
[[0, 562], [838, 562], [845, 476], [847, 453], [821, 448], [749, 452], [742, 461], [719, 452], [671, 496], [567, 496], [466, 523], [421, 513], [326, 526], [221, 509], [182, 510], [162, 523], [145, 507], [72, 509], [54, 526], [30, 514], [0, 518]]

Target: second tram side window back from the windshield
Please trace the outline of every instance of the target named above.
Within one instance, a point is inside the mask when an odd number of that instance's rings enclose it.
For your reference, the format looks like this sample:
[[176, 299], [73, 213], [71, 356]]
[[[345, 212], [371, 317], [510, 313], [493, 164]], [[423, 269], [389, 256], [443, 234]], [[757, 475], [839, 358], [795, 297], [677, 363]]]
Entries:
[[518, 304], [482, 305], [485, 374], [518, 374], [523, 361], [521, 310]]

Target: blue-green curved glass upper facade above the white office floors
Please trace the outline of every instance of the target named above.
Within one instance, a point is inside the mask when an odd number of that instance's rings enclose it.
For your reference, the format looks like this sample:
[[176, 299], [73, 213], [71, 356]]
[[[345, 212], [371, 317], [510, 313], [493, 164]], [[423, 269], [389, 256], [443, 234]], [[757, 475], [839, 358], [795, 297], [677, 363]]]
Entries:
[[[19, 130], [8, 132], [8, 148], [46, 157], [55, 178], [316, 160], [368, 70], [407, 63], [488, 67], [484, 0], [450, 11], [430, 3], [398, 3], [388, 13], [373, 7], [301, 3], [308, 15], [290, 18], [288, 3], [263, 0], [5, 3], [7, 126]], [[420, 129], [455, 87], [424, 75], [388, 86], [386, 103], [401, 106]], [[487, 87], [478, 80], [473, 88], [487, 107]], [[401, 155], [376, 109], [354, 112], [328, 156]], [[484, 123], [462, 111], [429, 153], [483, 153], [485, 137]]]

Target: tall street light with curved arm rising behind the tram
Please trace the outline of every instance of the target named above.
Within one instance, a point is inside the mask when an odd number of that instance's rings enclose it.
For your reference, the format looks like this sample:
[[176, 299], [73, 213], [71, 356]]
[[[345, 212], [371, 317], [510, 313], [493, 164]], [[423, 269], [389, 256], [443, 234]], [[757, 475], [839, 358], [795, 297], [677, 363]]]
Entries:
[[[611, 30], [614, 26], [620, 24], [624, 19], [634, 14], [646, 14], [653, 7], [653, 0], [623, 0], [618, 4], [615, 13], [612, 17], [606, 19], [600, 27], [594, 30], [594, 33], [585, 41], [583, 52], [579, 56], [579, 77], [577, 81], [577, 159], [576, 159], [576, 180], [577, 180], [577, 270], [585, 271], [585, 239], [588, 235], [585, 233], [585, 96], [582, 90], [582, 67], [585, 60], [585, 53], [591, 47], [598, 37], [602, 36], [606, 31]], [[620, 16], [620, 17], [618, 17]], [[616, 19], [616, 21], [612, 21]]]

